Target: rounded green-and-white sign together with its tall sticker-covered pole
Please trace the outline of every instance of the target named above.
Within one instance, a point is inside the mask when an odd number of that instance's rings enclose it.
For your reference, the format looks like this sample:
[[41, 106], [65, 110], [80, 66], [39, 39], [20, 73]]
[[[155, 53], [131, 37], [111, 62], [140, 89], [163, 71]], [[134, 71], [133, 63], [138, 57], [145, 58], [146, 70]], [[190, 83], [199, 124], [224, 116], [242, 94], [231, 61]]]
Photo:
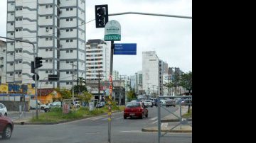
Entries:
[[112, 105], [112, 73], [113, 73], [113, 55], [114, 55], [114, 41], [121, 40], [121, 25], [118, 21], [108, 21], [105, 25], [105, 41], [111, 41], [110, 52], [110, 95], [108, 100], [108, 142], [111, 142], [111, 105]]

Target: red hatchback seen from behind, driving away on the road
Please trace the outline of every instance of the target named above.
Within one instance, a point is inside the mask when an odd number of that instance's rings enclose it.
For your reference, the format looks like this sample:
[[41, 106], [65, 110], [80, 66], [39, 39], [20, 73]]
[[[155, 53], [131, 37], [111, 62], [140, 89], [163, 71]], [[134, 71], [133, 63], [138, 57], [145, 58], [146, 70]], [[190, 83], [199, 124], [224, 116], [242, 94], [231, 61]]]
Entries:
[[149, 115], [149, 111], [146, 109], [145, 105], [142, 102], [129, 102], [124, 108], [124, 119], [127, 117], [137, 116], [139, 118], [143, 118], [143, 116], [147, 118]]

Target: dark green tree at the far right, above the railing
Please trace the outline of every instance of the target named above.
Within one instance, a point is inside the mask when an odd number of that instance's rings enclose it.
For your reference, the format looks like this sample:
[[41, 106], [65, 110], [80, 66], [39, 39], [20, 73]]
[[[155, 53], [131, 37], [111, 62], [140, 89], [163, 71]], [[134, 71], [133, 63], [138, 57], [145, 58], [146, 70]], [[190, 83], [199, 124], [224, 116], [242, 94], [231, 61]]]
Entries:
[[188, 90], [189, 95], [191, 95], [192, 90], [192, 71], [189, 71], [187, 74], [181, 74], [181, 86]]

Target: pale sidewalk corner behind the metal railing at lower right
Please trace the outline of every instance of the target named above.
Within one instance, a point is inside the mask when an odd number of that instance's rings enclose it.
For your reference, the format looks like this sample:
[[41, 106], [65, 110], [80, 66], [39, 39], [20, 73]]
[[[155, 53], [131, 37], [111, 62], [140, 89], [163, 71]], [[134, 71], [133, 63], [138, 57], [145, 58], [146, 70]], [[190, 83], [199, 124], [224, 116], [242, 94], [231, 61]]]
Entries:
[[[161, 110], [164, 110], [164, 109], [161, 108]], [[187, 111], [188, 111], [188, 106], [181, 106], [181, 115], [185, 114]], [[180, 109], [178, 108], [178, 110], [176, 110], [174, 114], [178, 115], [179, 117]], [[166, 117], [161, 119], [161, 132], [192, 132], [192, 127], [190, 126], [192, 125], [192, 118], [188, 118], [188, 119], [183, 118], [182, 125], [178, 125], [178, 123], [180, 123], [180, 120], [178, 120], [176, 116], [170, 113], [170, 115], [167, 115]], [[189, 125], [187, 125], [186, 123], [188, 123]], [[175, 128], [172, 129], [173, 127]], [[158, 132], [158, 125], [156, 124], [153, 127], [144, 127], [142, 128], [142, 132]]]

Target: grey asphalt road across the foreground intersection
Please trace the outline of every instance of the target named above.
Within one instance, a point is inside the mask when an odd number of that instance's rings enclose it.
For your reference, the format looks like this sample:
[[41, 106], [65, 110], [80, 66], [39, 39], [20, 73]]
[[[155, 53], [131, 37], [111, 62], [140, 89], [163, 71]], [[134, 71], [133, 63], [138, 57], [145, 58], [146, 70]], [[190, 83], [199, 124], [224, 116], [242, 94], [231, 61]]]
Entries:
[[[170, 107], [171, 110], [176, 110]], [[127, 118], [123, 119], [123, 113], [112, 114], [111, 142], [117, 143], [149, 143], [157, 142], [157, 132], [142, 132], [143, 127], [153, 127], [157, 125], [157, 108], [148, 108], [148, 118]], [[168, 115], [163, 110], [161, 116]], [[105, 143], [108, 136], [107, 115], [97, 116], [65, 122], [58, 125], [15, 125], [14, 132], [9, 140], [0, 139], [1, 143]], [[191, 133], [169, 133], [171, 137], [161, 138], [161, 143], [192, 143]]]

